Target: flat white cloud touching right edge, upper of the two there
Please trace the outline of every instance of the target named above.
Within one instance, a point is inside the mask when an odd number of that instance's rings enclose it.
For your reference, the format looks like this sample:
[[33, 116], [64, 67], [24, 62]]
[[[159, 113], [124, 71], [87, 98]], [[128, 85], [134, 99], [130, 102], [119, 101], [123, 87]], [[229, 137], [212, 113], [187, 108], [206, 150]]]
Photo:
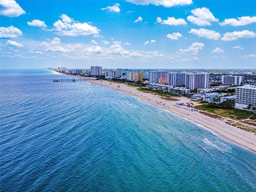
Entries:
[[244, 16], [244, 17], [238, 17], [237, 19], [224, 19], [222, 23], [219, 23], [220, 25], [231, 25], [231, 26], [243, 26], [251, 23], [256, 23], [256, 16]]

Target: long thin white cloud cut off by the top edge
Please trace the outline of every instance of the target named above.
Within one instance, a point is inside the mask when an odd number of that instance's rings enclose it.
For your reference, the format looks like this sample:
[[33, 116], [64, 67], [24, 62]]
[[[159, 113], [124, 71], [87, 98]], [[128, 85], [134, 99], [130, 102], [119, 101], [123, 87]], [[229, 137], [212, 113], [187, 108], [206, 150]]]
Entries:
[[136, 5], [156, 5], [164, 7], [172, 7], [175, 5], [189, 5], [192, 4], [192, 0], [125, 0]]

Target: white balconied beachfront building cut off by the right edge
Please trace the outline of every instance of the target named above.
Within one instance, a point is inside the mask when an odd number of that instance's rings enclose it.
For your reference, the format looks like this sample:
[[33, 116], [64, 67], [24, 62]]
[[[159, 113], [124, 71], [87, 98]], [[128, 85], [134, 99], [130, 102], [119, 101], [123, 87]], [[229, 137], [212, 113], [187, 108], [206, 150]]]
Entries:
[[244, 85], [236, 87], [235, 108], [246, 110], [248, 105], [256, 107], [256, 86]]

